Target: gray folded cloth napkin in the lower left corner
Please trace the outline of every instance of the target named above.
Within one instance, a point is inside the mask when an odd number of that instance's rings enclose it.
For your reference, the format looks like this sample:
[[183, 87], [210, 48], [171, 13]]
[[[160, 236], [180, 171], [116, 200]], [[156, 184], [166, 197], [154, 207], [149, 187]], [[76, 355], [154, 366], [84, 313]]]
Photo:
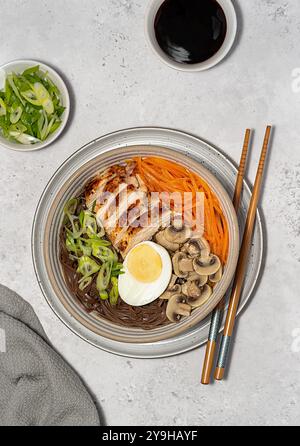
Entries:
[[51, 347], [32, 307], [0, 285], [0, 425], [99, 424], [91, 396]]

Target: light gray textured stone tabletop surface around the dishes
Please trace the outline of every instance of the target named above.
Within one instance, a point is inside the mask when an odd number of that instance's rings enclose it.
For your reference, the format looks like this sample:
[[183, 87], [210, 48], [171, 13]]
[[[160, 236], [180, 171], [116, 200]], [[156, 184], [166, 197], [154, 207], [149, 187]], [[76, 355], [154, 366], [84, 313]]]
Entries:
[[[293, 88], [292, 74], [300, 67], [300, 4], [235, 1], [234, 50], [211, 71], [187, 74], [163, 65], [147, 47], [146, 3], [1, 1], [0, 63], [36, 58], [58, 67], [74, 102], [71, 125], [54, 145], [28, 154], [1, 149], [0, 282], [34, 306], [109, 425], [299, 424], [300, 83]], [[30, 253], [37, 201], [62, 161], [104, 133], [157, 125], [198, 134], [237, 162], [250, 126], [253, 180], [267, 123], [276, 130], [262, 201], [266, 264], [238, 324], [228, 380], [199, 385], [203, 349], [171, 359], [124, 359], [68, 331], [44, 301]]]

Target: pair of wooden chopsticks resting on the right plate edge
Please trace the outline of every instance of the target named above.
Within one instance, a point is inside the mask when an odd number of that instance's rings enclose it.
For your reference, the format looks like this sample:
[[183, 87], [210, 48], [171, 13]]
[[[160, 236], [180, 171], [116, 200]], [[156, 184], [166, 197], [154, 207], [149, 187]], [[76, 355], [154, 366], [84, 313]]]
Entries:
[[[243, 241], [240, 249], [238, 265], [235, 273], [235, 278], [231, 290], [231, 295], [229, 299], [229, 308], [226, 316], [226, 322], [224, 327], [224, 332], [222, 335], [220, 351], [218, 355], [216, 370], [215, 370], [215, 379], [222, 380], [224, 378], [225, 368], [228, 360], [228, 353], [230, 350], [230, 341], [232, 339], [235, 318], [240, 302], [240, 297], [242, 293], [242, 287], [245, 279], [246, 268], [248, 263], [248, 257], [251, 247], [251, 241], [253, 236], [254, 224], [256, 211], [258, 206], [258, 201], [260, 197], [261, 185], [263, 180], [263, 173], [265, 167], [265, 160], [268, 151], [269, 141], [271, 135], [271, 126], [268, 126], [266, 129], [263, 147], [261, 151], [261, 157], [257, 169], [255, 184], [253, 188], [253, 193], [248, 209], [247, 220], [244, 229]], [[243, 180], [245, 176], [246, 162], [247, 162], [247, 154], [250, 144], [250, 136], [251, 131], [249, 129], [246, 130], [244, 145], [236, 180], [235, 192], [233, 197], [233, 205], [235, 211], [237, 212], [241, 202], [241, 193], [243, 188]], [[208, 337], [208, 342], [206, 346], [205, 359], [203, 363], [202, 370], [202, 384], [209, 384], [211, 372], [214, 364], [214, 356], [216, 351], [216, 342], [218, 333], [220, 330], [220, 325], [223, 316], [223, 310], [225, 307], [225, 297], [213, 311], [211, 324], [210, 324], [210, 332]]]

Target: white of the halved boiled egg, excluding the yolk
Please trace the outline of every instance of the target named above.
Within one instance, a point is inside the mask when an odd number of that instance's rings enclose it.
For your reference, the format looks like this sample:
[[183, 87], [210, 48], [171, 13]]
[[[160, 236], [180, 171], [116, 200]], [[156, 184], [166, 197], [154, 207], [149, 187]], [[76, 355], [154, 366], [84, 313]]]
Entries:
[[162, 270], [158, 279], [151, 283], [136, 280], [128, 270], [128, 258], [132, 250], [129, 251], [123, 263], [124, 274], [119, 276], [118, 284], [121, 299], [134, 307], [141, 307], [158, 299], [167, 289], [172, 276], [172, 261], [168, 251], [163, 246], [154, 242], [142, 242], [133, 249], [140, 245], [149, 245], [157, 252], [161, 258]]

